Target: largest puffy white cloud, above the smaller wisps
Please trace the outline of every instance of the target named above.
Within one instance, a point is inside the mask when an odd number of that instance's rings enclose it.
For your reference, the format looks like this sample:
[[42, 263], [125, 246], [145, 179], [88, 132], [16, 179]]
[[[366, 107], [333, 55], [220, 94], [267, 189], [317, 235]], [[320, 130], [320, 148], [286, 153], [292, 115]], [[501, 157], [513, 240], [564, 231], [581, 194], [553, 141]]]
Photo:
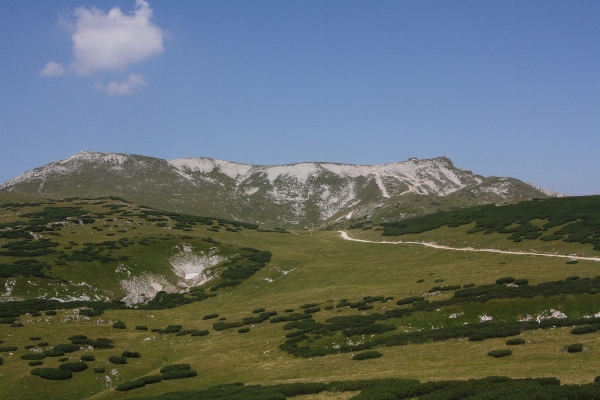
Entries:
[[[136, 0], [135, 11], [130, 15], [118, 7], [108, 13], [95, 7], [80, 7], [74, 15], [73, 68], [80, 75], [123, 70], [164, 51], [164, 32], [151, 23], [152, 9], [144, 0]], [[128, 82], [115, 85], [130, 84], [132, 76]]]

